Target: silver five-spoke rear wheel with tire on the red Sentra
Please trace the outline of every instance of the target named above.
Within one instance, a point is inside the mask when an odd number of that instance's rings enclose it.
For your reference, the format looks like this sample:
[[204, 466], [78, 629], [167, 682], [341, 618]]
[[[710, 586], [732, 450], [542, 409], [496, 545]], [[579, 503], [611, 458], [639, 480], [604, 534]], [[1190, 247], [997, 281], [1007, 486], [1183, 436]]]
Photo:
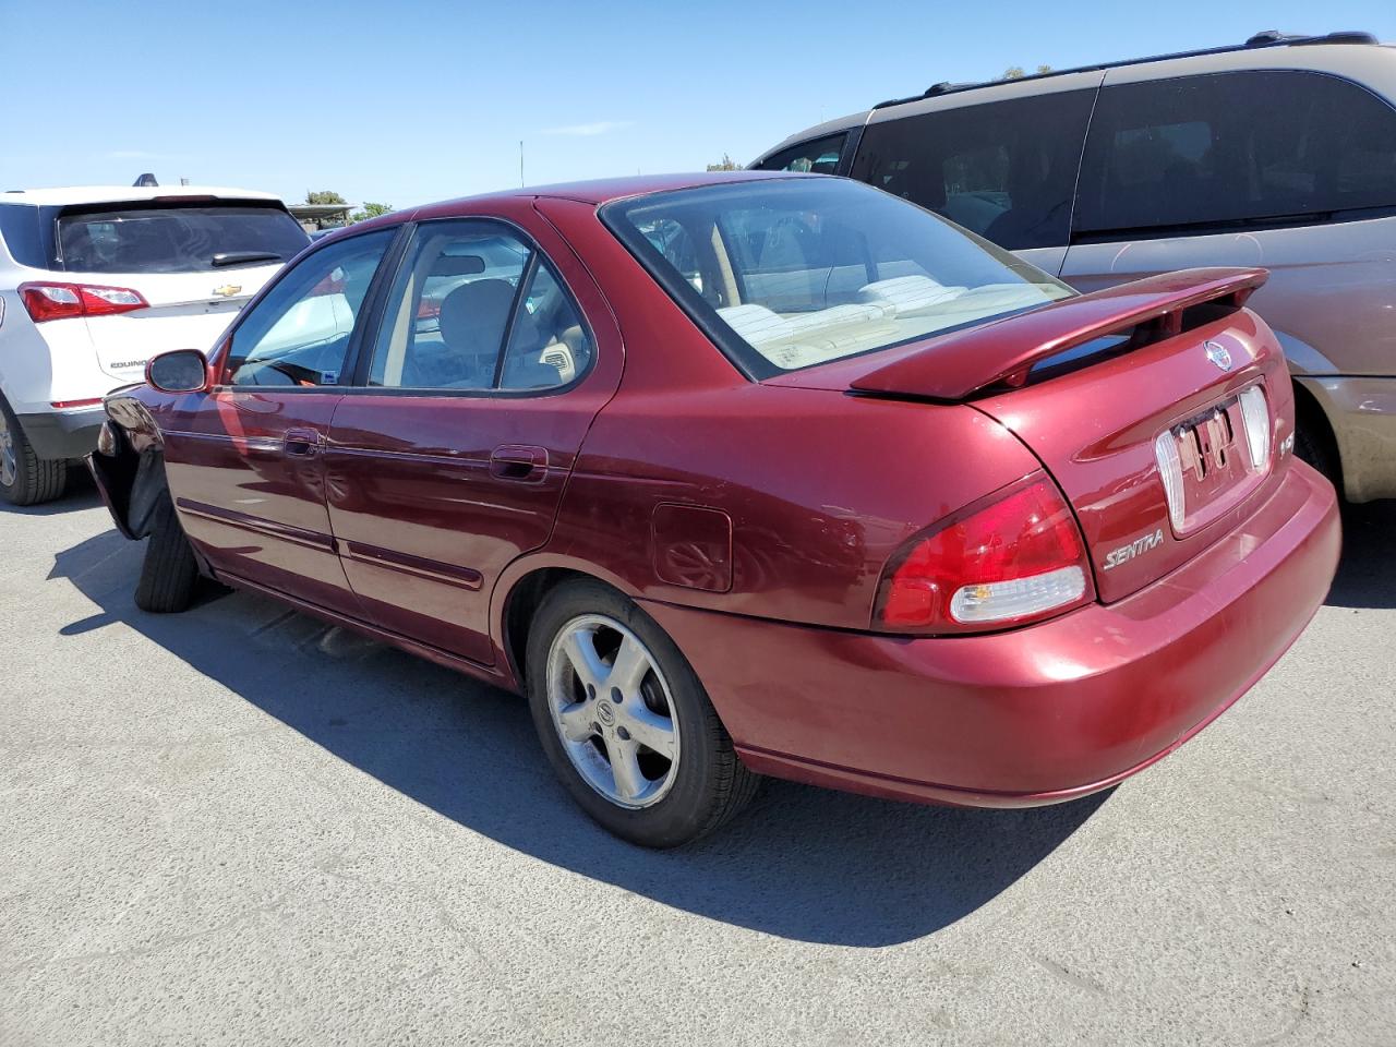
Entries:
[[528, 644], [543, 751], [572, 799], [646, 847], [712, 832], [755, 794], [697, 674], [639, 607], [597, 582], [553, 591]]

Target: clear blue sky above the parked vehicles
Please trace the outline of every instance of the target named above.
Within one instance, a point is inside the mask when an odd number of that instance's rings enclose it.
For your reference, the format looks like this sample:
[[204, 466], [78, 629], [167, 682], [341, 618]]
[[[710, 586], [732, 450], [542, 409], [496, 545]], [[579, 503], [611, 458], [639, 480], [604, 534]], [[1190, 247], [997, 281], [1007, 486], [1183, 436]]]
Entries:
[[745, 163], [942, 80], [1367, 29], [1396, 1], [0, 0], [0, 188], [162, 183], [410, 204]]

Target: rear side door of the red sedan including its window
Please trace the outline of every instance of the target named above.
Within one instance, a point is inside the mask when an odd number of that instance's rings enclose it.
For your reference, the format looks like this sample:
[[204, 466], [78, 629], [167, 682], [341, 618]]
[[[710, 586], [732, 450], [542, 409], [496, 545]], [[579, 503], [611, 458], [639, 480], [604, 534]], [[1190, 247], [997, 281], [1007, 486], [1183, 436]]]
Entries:
[[416, 228], [325, 451], [343, 571], [380, 627], [494, 660], [493, 585], [547, 542], [618, 378], [597, 295], [542, 223]]

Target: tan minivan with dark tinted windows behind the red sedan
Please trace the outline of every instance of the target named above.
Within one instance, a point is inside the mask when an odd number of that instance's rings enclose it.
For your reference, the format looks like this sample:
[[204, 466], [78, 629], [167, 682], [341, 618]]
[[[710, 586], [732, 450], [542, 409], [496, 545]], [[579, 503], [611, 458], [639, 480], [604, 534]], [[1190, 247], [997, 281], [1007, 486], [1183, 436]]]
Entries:
[[1396, 46], [1266, 32], [938, 84], [752, 166], [871, 183], [1082, 290], [1263, 265], [1251, 304], [1289, 357], [1298, 452], [1350, 501], [1396, 497]]

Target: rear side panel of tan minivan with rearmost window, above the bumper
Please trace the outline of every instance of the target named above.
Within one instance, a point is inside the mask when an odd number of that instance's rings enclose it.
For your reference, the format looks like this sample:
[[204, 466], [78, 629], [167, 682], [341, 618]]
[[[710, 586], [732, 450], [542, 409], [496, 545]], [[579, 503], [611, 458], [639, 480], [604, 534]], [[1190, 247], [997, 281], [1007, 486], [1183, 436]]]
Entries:
[[1396, 110], [1298, 70], [1139, 81], [1113, 70], [1062, 279], [1081, 290], [1195, 265], [1263, 265], [1251, 304], [1300, 371], [1390, 373]]

